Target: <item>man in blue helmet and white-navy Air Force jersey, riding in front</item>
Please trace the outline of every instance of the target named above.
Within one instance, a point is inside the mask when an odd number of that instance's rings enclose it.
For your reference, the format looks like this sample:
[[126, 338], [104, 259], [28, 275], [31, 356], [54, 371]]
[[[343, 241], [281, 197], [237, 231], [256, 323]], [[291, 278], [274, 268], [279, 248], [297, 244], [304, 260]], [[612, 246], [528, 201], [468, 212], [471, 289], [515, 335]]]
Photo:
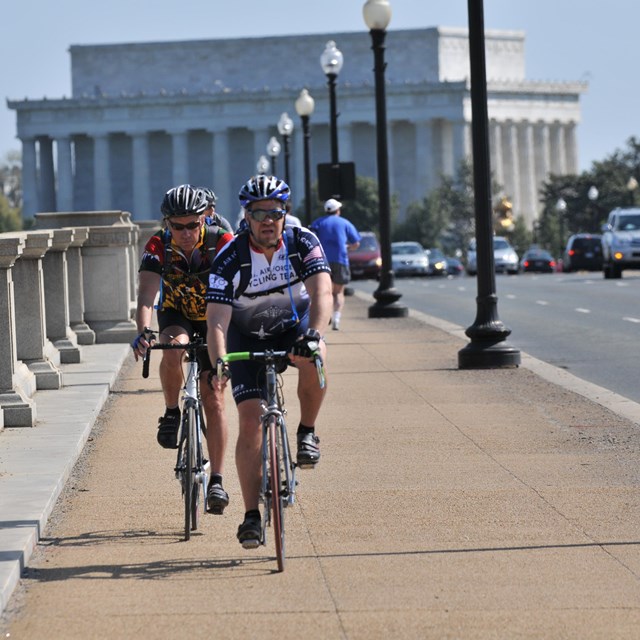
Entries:
[[[285, 231], [289, 187], [275, 176], [251, 178], [240, 190], [247, 230], [216, 256], [207, 290], [207, 344], [212, 363], [228, 351], [276, 349], [291, 351], [298, 369], [300, 425], [297, 460], [305, 466], [320, 459], [315, 421], [325, 390], [318, 384], [309, 342], [318, 342], [332, 309], [331, 270], [318, 238], [308, 229]], [[289, 235], [291, 234], [291, 235]], [[295, 260], [292, 255], [295, 252]], [[250, 274], [243, 289], [245, 259]], [[220, 394], [226, 378], [212, 379]], [[233, 397], [238, 407], [239, 433], [236, 465], [245, 503], [245, 519], [238, 540], [245, 548], [260, 543], [260, 447], [262, 389], [259, 365], [235, 362], [230, 366]]]

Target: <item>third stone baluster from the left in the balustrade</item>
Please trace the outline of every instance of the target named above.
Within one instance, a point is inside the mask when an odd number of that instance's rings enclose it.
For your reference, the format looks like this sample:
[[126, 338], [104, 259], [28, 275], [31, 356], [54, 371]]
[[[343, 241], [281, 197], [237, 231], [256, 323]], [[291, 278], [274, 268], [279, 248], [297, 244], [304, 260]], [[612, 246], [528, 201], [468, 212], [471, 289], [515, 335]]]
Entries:
[[47, 337], [64, 364], [80, 362], [78, 341], [69, 326], [67, 249], [72, 241], [73, 229], [54, 229], [53, 243], [42, 262]]

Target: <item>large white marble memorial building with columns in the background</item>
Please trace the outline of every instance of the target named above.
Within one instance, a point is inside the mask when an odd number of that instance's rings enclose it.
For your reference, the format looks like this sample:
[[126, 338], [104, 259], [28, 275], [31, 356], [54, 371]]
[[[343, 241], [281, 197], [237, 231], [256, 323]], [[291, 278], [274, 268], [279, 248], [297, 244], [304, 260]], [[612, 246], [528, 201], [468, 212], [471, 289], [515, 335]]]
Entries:
[[[577, 172], [581, 82], [528, 80], [521, 31], [486, 32], [492, 171], [516, 215], [537, 216], [549, 172]], [[319, 58], [344, 54], [338, 77], [340, 161], [376, 176], [373, 54], [367, 31], [250, 39], [71, 46], [72, 96], [9, 100], [22, 141], [24, 215], [130, 211], [158, 218], [164, 192], [191, 182], [218, 194], [234, 219], [240, 185], [256, 172], [280, 114], [290, 139], [294, 204], [304, 195], [303, 138], [294, 102], [311, 116], [313, 180], [330, 161], [329, 93]], [[468, 32], [390, 30], [387, 119], [392, 192], [402, 211], [471, 155]], [[553, 73], [553, 69], [549, 70]], [[278, 158], [283, 175], [283, 157]]]

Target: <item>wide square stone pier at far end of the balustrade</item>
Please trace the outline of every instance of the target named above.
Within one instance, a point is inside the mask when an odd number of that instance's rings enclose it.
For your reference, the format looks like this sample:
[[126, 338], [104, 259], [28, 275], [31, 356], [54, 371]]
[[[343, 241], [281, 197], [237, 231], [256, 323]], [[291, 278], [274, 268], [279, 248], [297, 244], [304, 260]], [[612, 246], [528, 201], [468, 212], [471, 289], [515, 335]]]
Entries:
[[134, 245], [133, 227], [114, 225], [91, 227], [82, 246], [84, 315], [98, 343], [131, 342], [137, 335], [128, 255]]

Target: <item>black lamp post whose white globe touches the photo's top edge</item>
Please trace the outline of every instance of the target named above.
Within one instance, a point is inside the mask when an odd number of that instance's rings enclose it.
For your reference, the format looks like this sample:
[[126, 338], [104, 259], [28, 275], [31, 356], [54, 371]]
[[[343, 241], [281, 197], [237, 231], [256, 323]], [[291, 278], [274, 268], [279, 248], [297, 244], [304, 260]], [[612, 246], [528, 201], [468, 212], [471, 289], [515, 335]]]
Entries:
[[367, 0], [362, 8], [371, 34], [376, 88], [376, 157], [378, 161], [378, 200], [380, 217], [380, 282], [373, 294], [376, 302], [369, 307], [370, 318], [406, 318], [409, 309], [398, 301], [402, 294], [394, 287], [391, 264], [391, 198], [389, 195], [389, 152], [387, 147], [387, 99], [384, 85], [384, 41], [391, 21], [388, 0]]

